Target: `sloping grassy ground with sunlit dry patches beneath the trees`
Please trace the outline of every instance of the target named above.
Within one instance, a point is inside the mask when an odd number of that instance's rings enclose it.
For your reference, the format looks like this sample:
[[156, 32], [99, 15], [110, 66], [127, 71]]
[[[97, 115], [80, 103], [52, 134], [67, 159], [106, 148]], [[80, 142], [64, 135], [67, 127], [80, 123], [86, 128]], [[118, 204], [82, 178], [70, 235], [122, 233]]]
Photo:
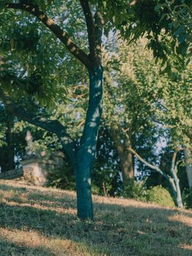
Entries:
[[0, 181], [0, 255], [192, 255], [192, 211], [93, 199], [80, 222], [74, 192]]

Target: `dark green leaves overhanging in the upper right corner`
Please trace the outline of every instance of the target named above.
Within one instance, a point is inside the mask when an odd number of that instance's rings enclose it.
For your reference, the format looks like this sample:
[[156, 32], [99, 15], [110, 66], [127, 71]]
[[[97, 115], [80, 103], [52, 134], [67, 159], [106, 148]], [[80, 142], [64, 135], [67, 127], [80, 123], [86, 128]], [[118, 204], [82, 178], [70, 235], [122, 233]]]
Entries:
[[190, 0], [106, 0], [99, 4], [107, 21], [115, 31], [120, 30], [123, 38], [130, 42], [136, 42], [139, 37], [147, 38], [147, 47], [162, 60], [162, 66], [166, 64], [166, 72], [170, 72], [173, 63], [174, 67], [183, 67], [183, 56], [190, 59]]

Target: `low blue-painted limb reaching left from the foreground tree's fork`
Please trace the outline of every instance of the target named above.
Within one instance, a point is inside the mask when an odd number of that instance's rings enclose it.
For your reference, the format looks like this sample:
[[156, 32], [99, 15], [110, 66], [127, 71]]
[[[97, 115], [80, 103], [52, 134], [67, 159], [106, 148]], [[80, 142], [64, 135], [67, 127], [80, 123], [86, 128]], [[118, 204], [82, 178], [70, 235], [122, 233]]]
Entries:
[[47, 130], [48, 132], [53, 132], [58, 136], [64, 151], [70, 158], [74, 157], [75, 142], [72, 140], [70, 135], [66, 132], [66, 127], [60, 123], [58, 120], [50, 120], [42, 116], [36, 116], [33, 113], [28, 113], [28, 111], [23, 110], [18, 105], [13, 102], [7, 93], [4, 92], [0, 87], [0, 98], [4, 105], [6, 105], [9, 112], [14, 113], [24, 121], [30, 124], [34, 124], [37, 127]]

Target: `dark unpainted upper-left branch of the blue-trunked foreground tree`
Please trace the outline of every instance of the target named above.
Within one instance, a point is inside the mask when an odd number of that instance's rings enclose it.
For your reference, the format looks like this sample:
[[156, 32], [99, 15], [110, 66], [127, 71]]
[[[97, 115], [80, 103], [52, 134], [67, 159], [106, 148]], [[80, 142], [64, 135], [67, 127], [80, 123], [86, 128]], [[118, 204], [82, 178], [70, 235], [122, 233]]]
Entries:
[[80, 48], [77, 47], [77, 45], [72, 42], [72, 39], [69, 37], [69, 34], [67, 34], [63, 29], [61, 29], [57, 24], [55, 24], [54, 20], [49, 18], [45, 12], [42, 12], [39, 10], [39, 7], [34, 4], [14, 4], [14, 3], [7, 3], [5, 5], [9, 9], [15, 9], [15, 10], [23, 10], [26, 12], [31, 13], [35, 17], [37, 17], [39, 20], [42, 21], [42, 23], [47, 26], [50, 31], [55, 34], [55, 36], [61, 40], [61, 42], [64, 43], [66, 48], [72, 53], [72, 55], [82, 62], [82, 64], [85, 65], [88, 69], [91, 66], [90, 60], [87, 56], [87, 54], [84, 53]]

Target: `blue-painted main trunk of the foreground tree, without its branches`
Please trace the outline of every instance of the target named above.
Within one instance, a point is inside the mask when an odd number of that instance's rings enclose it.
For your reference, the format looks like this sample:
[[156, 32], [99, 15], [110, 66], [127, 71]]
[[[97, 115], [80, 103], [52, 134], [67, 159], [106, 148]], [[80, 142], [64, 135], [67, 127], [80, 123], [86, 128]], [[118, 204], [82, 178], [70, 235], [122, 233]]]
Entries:
[[77, 217], [93, 219], [93, 203], [91, 196], [91, 168], [96, 154], [96, 140], [102, 112], [102, 79], [101, 67], [89, 72], [90, 98], [85, 127], [77, 148], [74, 164], [77, 187]]

